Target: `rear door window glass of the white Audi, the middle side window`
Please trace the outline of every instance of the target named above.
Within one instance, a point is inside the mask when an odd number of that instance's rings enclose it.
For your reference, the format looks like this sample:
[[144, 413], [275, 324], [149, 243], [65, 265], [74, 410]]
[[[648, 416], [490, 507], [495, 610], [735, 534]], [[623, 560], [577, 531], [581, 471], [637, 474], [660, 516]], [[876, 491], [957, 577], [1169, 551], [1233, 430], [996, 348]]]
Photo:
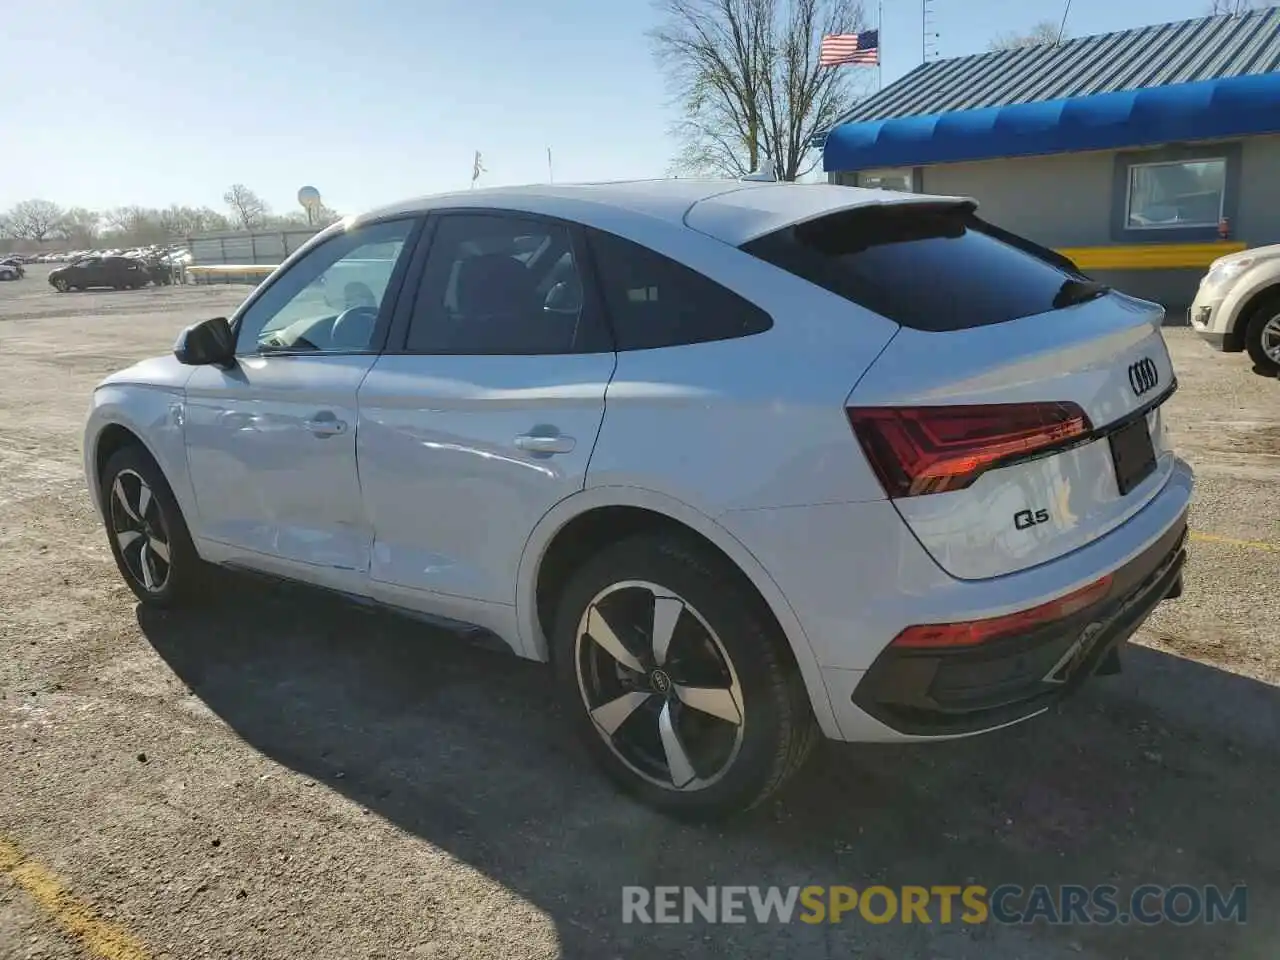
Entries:
[[445, 214], [431, 237], [406, 349], [412, 353], [590, 353], [608, 349], [564, 224]]

